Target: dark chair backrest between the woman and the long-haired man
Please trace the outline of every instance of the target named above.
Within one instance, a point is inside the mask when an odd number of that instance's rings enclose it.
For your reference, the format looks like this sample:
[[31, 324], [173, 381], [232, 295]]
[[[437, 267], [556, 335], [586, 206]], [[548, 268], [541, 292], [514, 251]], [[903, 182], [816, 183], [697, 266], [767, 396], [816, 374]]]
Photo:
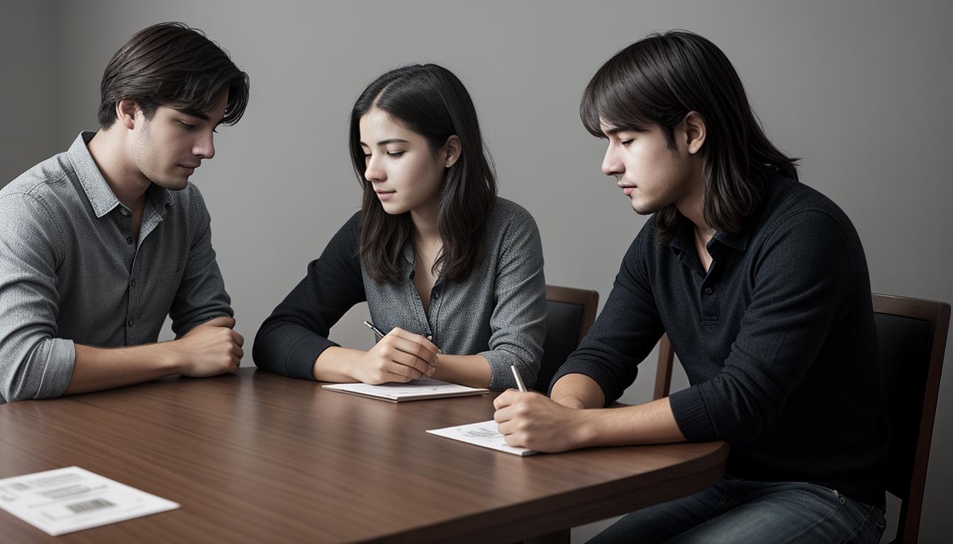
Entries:
[[596, 320], [598, 292], [571, 287], [546, 286], [546, 339], [542, 362], [533, 389], [547, 393], [556, 375]]

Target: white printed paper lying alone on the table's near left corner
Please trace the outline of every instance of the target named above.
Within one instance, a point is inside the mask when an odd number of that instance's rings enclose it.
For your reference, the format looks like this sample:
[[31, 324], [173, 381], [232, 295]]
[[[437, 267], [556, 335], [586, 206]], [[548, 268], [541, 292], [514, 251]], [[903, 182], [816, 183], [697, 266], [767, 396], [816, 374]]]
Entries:
[[179, 508], [79, 467], [0, 480], [0, 508], [47, 534], [72, 533]]

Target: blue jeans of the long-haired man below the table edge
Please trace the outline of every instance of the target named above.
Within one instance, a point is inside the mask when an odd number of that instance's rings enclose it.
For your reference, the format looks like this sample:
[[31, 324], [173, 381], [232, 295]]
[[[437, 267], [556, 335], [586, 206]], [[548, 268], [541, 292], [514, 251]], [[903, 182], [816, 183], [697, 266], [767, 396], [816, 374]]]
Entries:
[[721, 478], [697, 494], [628, 514], [588, 544], [609, 542], [870, 542], [883, 511], [803, 482]]

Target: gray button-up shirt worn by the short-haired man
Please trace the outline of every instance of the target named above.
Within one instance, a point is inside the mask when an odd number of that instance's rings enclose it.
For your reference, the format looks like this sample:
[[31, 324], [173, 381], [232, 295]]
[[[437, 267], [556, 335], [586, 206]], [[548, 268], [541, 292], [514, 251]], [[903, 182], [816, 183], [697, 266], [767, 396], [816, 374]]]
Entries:
[[92, 161], [83, 132], [69, 151], [0, 190], [0, 403], [62, 394], [73, 342], [155, 342], [233, 314], [192, 184], [152, 185], [139, 235]]

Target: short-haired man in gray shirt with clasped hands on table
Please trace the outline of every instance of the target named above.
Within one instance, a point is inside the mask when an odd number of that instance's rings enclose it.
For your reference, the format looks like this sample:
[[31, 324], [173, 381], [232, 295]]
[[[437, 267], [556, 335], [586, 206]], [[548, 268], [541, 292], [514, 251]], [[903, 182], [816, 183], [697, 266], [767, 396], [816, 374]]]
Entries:
[[[103, 74], [101, 128], [0, 190], [0, 403], [234, 372], [241, 334], [189, 177], [248, 75], [179, 23]], [[172, 316], [176, 339], [154, 343]]]

